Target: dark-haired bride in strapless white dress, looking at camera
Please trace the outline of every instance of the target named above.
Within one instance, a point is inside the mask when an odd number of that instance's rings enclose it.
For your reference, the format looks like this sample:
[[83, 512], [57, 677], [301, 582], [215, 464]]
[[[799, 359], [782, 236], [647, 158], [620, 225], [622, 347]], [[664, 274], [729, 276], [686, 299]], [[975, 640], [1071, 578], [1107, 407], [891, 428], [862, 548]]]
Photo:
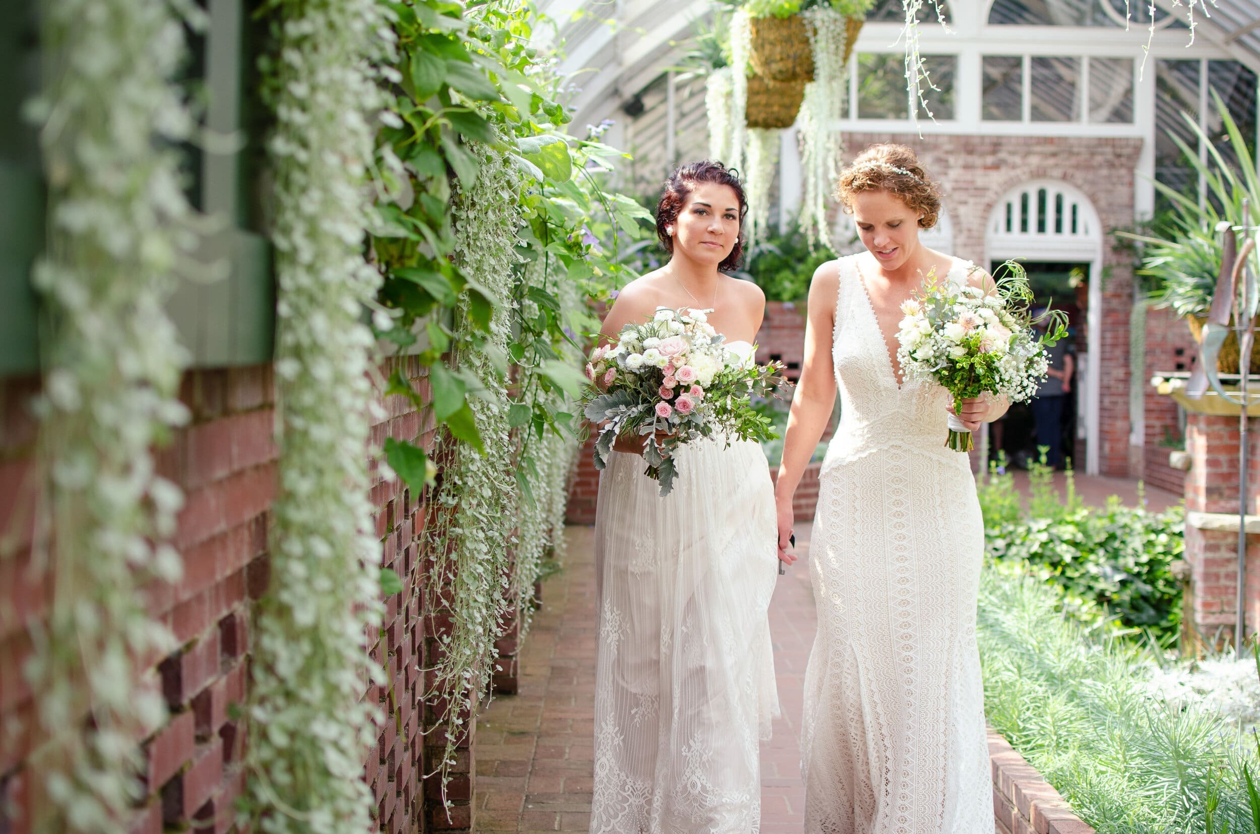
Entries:
[[[740, 261], [743, 184], [721, 163], [670, 174], [656, 233], [670, 254], [616, 299], [601, 341], [658, 307], [708, 311], [750, 355], [765, 296]], [[770, 470], [751, 441], [677, 451], [673, 491], [620, 440], [595, 520], [598, 658], [591, 831], [748, 834], [761, 824], [759, 743], [779, 712], [767, 610], [776, 533]], [[785, 561], [794, 557], [784, 556]]]

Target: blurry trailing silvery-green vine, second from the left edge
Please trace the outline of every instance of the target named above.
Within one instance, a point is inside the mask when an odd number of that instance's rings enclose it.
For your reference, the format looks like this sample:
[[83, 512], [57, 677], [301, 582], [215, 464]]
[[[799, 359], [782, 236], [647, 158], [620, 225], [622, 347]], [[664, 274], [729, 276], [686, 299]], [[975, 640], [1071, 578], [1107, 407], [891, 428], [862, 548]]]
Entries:
[[374, 338], [362, 316], [381, 277], [363, 257], [375, 127], [372, 62], [392, 48], [374, 0], [276, 4], [266, 91], [276, 188], [278, 495], [271, 581], [255, 629], [249, 815], [263, 831], [375, 829], [363, 756], [381, 668], [369, 501]]

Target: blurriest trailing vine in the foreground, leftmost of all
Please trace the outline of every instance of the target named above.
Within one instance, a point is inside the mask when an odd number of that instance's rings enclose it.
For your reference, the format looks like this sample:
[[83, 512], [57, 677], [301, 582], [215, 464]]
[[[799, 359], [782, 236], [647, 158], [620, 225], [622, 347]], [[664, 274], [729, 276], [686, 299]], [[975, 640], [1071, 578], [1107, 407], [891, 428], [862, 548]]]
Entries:
[[188, 357], [165, 304], [195, 246], [174, 147], [192, 121], [173, 78], [195, 9], [145, 0], [43, 4], [40, 125], [48, 243], [33, 544], [47, 621], [26, 678], [40, 743], [28, 758], [35, 831], [121, 833], [142, 797], [140, 740], [165, 721], [137, 659], [169, 651], [141, 588], [180, 576], [166, 544], [183, 503], [151, 447], [186, 421]]

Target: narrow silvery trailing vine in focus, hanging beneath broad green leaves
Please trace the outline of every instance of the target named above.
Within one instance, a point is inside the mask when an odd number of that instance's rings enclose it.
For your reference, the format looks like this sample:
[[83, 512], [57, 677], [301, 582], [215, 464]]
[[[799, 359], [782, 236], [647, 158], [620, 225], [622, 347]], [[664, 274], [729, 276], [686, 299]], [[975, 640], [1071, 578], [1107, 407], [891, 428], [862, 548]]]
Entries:
[[[517, 518], [518, 486], [514, 446], [508, 426], [508, 393], [494, 357], [505, 357], [513, 275], [518, 256], [517, 231], [522, 224], [522, 175], [505, 154], [470, 144], [480, 168], [467, 185], [455, 181], [452, 213], [456, 257], [464, 271], [498, 297], [490, 333], [479, 350], [461, 350], [450, 365], [466, 369], [481, 386], [469, 406], [481, 435], [484, 454], [450, 435], [440, 436], [433, 457], [442, 466], [441, 486], [425, 530], [430, 558], [428, 598], [431, 617], [449, 622], [436, 631], [442, 645], [435, 664], [436, 690], [426, 699], [446, 704], [438, 724], [445, 729], [446, 753], [438, 762], [442, 786], [446, 767], [469, 729], [478, 694], [488, 689], [494, 673], [494, 641], [510, 611], [512, 562], [515, 546], [512, 519]], [[466, 301], [456, 312], [456, 344], [472, 335]], [[530, 580], [530, 586], [532, 586]]]

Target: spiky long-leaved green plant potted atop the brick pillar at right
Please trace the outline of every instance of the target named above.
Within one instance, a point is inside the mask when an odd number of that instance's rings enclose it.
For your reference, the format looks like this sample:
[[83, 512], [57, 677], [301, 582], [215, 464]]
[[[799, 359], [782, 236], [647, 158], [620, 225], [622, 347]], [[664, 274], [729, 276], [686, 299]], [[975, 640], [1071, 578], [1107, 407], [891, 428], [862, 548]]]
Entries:
[[[1260, 222], [1260, 178], [1256, 165], [1260, 156], [1246, 146], [1239, 126], [1225, 102], [1212, 91], [1216, 108], [1228, 135], [1228, 144], [1239, 160], [1235, 168], [1225, 160], [1198, 122], [1184, 115], [1187, 123], [1207, 149], [1208, 159], [1173, 136], [1182, 156], [1207, 184], [1208, 198], [1202, 205], [1198, 194], [1181, 194], [1163, 183], [1155, 183], [1171, 203], [1150, 233], [1119, 231], [1116, 236], [1143, 244], [1139, 275], [1150, 281], [1150, 294], [1157, 306], [1172, 307], [1177, 315], [1207, 315], [1221, 273], [1222, 229], [1236, 233], [1244, 226]], [[1242, 200], [1251, 202], [1250, 217], [1242, 215]]]

